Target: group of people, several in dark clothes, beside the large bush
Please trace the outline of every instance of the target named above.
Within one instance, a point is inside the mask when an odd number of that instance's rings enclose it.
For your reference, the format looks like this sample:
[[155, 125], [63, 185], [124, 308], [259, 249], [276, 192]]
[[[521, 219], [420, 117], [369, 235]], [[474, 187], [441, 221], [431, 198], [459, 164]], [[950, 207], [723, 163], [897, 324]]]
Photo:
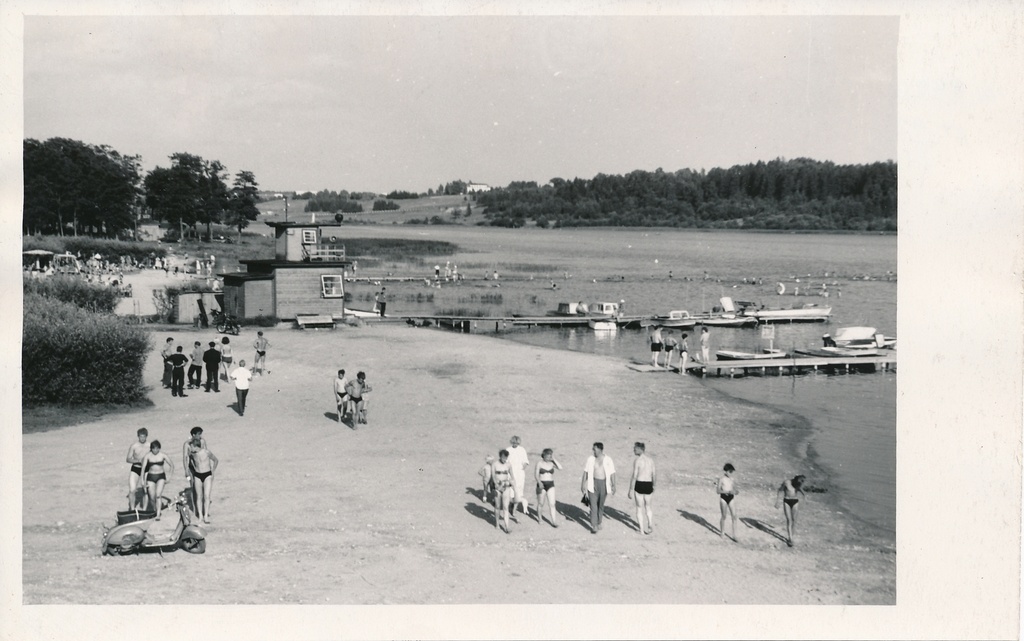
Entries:
[[[253, 348], [256, 350], [256, 358], [252, 370], [246, 368], [245, 359], [239, 360], [237, 367], [232, 368], [234, 354], [231, 341], [224, 336], [218, 344], [210, 341], [209, 346], [204, 349], [201, 341], [195, 341], [191, 352], [184, 353], [182, 345], [175, 344], [173, 338], [168, 338], [164, 343], [164, 348], [160, 354], [164, 359], [164, 388], [171, 389], [171, 395], [185, 397], [185, 366], [188, 367], [188, 389], [200, 389], [210, 392], [211, 390], [220, 392], [220, 379], [223, 375], [224, 381], [234, 383], [234, 393], [238, 400], [239, 416], [245, 416], [246, 399], [249, 395], [249, 385], [253, 376], [261, 376], [266, 370], [266, 351], [270, 343], [263, 337], [263, 332], [257, 332]], [[206, 383], [203, 384], [203, 372], [206, 371]]]

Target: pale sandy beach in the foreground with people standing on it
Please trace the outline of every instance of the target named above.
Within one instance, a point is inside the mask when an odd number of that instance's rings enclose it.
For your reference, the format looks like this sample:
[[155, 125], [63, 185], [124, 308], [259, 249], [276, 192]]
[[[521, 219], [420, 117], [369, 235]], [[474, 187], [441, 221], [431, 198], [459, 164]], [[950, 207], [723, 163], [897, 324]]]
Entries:
[[[265, 334], [271, 373], [254, 379], [245, 417], [225, 382], [220, 393], [172, 397], [154, 351], [153, 408], [23, 436], [26, 604], [896, 601], [892, 541], [827, 494], [801, 503], [797, 547], [781, 540], [775, 488], [798, 472], [814, 480], [795, 450], [805, 429], [795, 417], [689, 377], [485, 336], [404, 325]], [[166, 329], [153, 344], [167, 336], [186, 349], [220, 338]], [[231, 338], [236, 360], [251, 365], [255, 337], [246, 328]], [[339, 368], [366, 371], [374, 388], [357, 431], [334, 420]], [[180, 451], [194, 425], [220, 459], [206, 554], [100, 556], [102, 526], [126, 505], [135, 430], [147, 427], [174, 461], [171, 496], [184, 487]], [[531, 464], [552, 447], [564, 466], [557, 529], [519, 514], [506, 535], [481, 501], [477, 470], [513, 434]], [[595, 440], [618, 470], [598, 535], [580, 505]], [[636, 440], [657, 463], [651, 536], [633, 528], [626, 498]], [[715, 481], [727, 461], [745, 519], [738, 543], [717, 533]]]

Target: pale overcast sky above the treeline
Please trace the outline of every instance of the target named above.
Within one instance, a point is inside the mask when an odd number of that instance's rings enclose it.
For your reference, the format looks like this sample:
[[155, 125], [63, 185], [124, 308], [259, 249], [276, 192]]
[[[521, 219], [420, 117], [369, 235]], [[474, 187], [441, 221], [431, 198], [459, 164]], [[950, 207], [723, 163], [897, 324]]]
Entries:
[[28, 15], [24, 135], [274, 190], [896, 161], [898, 16]]

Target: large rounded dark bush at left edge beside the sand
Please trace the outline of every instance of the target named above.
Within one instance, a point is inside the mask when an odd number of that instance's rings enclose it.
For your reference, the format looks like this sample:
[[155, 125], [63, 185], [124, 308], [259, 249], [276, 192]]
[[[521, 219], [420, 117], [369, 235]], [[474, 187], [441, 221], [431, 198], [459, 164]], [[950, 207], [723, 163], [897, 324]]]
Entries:
[[25, 296], [22, 403], [127, 404], [143, 400], [150, 336], [99, 314], [34, 293]]

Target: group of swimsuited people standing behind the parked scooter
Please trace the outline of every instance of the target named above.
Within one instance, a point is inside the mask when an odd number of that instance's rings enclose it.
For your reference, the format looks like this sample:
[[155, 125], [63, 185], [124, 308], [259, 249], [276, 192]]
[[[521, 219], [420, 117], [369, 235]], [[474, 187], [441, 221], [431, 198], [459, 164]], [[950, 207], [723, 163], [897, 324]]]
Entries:
[[[159, 440], [154, 439], [148, 446], [150, 431], [141, 427], [136, 431], [137, 440], [128, 447], [128, 507], [133, 510], [154, 510], [160, 520], [167, 477], [174, 473], [174, 463], [161, 450]], [[203, 428], [196, 426], [188, 440], [181, 447], [181, 468], [185, 471], [185, 481], [191, 487], [193, 511], [204, 523], [210, 522], [210, 502], [213, 492], [213, 473], [219, 465], [217, 457], [210, 452]], [[141, 495], [141, 496], [139, 496]]]

